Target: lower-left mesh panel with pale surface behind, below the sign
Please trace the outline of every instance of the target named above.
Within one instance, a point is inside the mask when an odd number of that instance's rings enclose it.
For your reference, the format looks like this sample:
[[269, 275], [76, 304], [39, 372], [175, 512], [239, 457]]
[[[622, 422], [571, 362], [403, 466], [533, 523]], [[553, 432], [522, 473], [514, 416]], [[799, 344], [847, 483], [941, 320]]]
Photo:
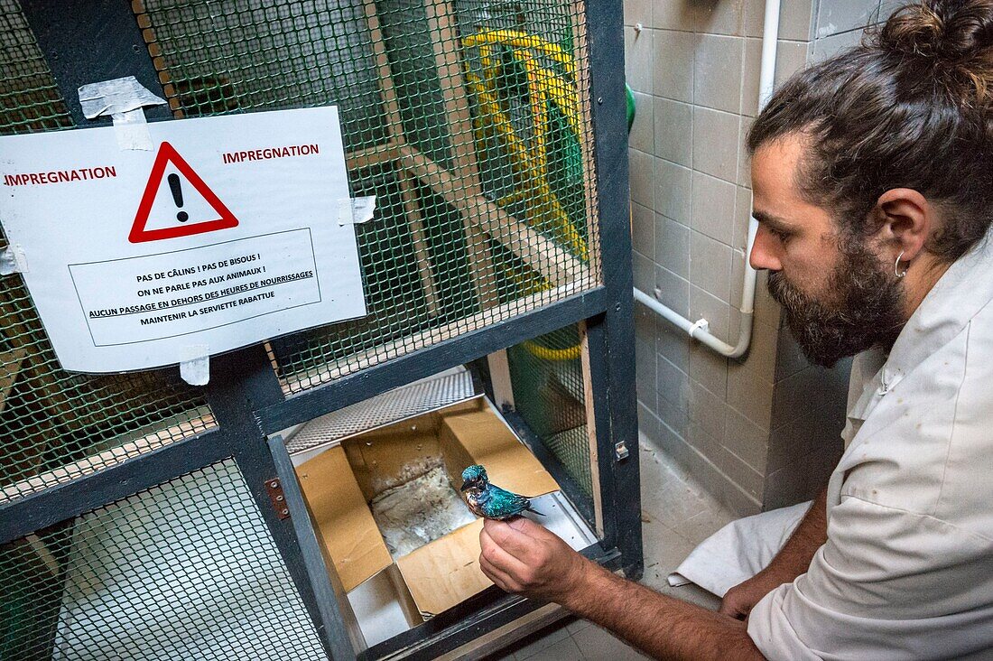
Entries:
[[0, 547], [0, 658], [324, 659], [233, 460]]

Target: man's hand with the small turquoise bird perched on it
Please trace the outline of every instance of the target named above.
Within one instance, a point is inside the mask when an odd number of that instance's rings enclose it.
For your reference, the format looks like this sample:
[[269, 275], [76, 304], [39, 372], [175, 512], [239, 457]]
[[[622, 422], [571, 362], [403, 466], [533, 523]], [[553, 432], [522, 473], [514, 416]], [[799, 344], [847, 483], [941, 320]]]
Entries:
[[580, 584], [590, 561], [530, 519], [488, 519], [480, 532], [480, 568], [497, 586], [562, 603]]

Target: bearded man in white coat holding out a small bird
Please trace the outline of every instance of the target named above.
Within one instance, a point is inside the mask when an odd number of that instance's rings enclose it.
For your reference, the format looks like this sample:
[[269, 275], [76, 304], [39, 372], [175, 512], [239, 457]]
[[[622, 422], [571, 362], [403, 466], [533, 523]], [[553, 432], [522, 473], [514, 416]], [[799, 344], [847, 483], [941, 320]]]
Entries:
[[858, 354], [827, 487], [720, 612], [524, 519], [486, 522], [483, 570], [658, 658], [993, 658], [993, 0], [897, 12], [749, 148], [752, 265], [812, 362]]

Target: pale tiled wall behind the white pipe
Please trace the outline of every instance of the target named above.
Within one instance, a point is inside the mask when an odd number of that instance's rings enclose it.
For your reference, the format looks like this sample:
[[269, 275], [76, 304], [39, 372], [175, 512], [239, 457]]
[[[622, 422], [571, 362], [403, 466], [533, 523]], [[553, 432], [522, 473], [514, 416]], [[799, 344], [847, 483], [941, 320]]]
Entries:
[[[895, 0], [882, 0], [892, 3]], [[782, 0], [777, 83], [857, 43], [881, 0]], [[738, 337], [763, 0], [627, 0], [635, 285]], [[760, 275], [752, 349], [727, 360], [636, 308], [642, 430], [739, 513], [804, 497], [836, 460], [847, 367], [806, 365]], [[797, 358], [798, 357], [798, 358]], [[815, 427], [814, 431], [805, 430]]]

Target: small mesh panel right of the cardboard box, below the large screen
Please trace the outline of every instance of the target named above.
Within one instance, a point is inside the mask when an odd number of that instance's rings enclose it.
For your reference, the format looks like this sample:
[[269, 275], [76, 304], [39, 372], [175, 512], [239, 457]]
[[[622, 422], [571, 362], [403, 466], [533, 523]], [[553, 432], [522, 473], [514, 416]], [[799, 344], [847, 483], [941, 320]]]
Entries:
[[575, 326], [507, 349], [514, 407], [583, 493], [593, 498], [582, 344]]

